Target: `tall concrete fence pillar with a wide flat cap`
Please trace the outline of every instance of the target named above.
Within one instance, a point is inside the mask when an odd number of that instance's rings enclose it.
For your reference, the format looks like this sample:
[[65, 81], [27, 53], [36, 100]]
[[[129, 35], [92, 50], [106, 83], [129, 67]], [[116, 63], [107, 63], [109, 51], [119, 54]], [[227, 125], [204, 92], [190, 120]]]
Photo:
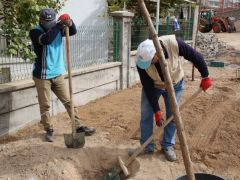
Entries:
[[114, 22], [120, 25], [119, 33], [119, 61], [122, 62], [120, 88], [129, 87], [130, 51], [131, 51], [131, 21], [134, 16], [128, 11], [114, 11], [111, 13]]

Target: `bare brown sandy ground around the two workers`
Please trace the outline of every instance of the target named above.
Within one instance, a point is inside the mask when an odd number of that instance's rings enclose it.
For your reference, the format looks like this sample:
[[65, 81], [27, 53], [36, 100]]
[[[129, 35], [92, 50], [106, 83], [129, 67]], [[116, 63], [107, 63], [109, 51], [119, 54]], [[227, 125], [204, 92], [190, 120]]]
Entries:
[[[224, 41], [230, 34], [219, 34]], [[240, 33], [232, 33], [240, 47]], [[230, 43], [232, 40], [230, 40]], [[225, 179], [240, 179], [240, 81], [236, 69], [240, 57], [233, 52], [219, 57], [224, 68], [209, 67], [214, 86], [201, 93], [182, 111], [186, 136], [195, 172], [207, 172]], [[186, 91], [182, 102], [199, 86], [195, 71], [191, 81], [191, 64], [185, 63]], [[86, 138], [82, 149], [67, 149], [63, 134], [71, 132], [66, 113], [53, 117], [54, 143], [44, 142], [40, 125], [34, 125], [0, 141], [0, 179], [99, 180], [106, 170], [117, 165], [117, 156], [127, 158], [127, 149], [139, 143], [129, 137], [139, 125], [141, 86], [119, 91], [79, 108], [86, 125], [95, 126], [95, 135]], [[162, 99], [161, 107], [164, 110]], [[171, 180], [185, 174], [179, 142], [178, 160], [167, 162], [159, 148], [153, 156], [144, 155], [129, 167], [131, 180]]]

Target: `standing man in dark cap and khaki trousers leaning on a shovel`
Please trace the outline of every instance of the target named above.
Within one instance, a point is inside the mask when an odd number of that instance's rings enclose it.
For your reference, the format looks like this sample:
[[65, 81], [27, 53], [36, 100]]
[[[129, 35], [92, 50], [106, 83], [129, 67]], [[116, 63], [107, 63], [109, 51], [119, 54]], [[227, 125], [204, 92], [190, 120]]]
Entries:
[[[46, 131], [46, 140], [53, 141], [53, 125], [50, 121], [51, 90], [60, 99], [70, 115], [70, 97], [64, 81], [65, 60], [62, 39], [65, 36], [65, 26], [69, 26], [70, 36], [77, 33], [76, 26], [68, 14], [63, 14], [56, 21], [56, 12], [51, 8], [42, 9], [39, 25], [29, 33], [36, 54], [33, 67], [38, 102], [41, 113], [41, 124]], [[77, 132], [92, 135], [95, 128], [83, 126], [76, 108], [75, 121]]]

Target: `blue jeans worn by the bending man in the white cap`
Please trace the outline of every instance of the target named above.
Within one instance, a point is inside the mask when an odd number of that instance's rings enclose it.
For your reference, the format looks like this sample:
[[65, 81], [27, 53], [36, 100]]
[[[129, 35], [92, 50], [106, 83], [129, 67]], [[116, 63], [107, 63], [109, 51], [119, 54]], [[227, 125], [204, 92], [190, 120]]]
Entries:
[[[181, 96], [183, 94], [184, 89], [184, 80], [179, 81], [175, 86], [175, 95], [177, 102], [180, 102]], [[172, 115], [170, 100], [168, 97], [167, 90], [165, 89], [156, 89], [155, 92], [157, 98], [159, 99], [162, 95], [164, 98], [164, 103], [166, 107], [166, 118], [169, 118]], [[140, 143], [143, 144], [152, 134], [153, 134], [153, 123], [154, 123], [154, 112], [148, 101], [148, 98], [142, 89], [141, 96], [141, 121], [140, 121], [140, 129], [141, 129], [141, 138]], [[175, 145], [176, 143], [176, 124], [174, 121], [171, 121], [164, 128], [163, 139], [161, 141], [161, 146], [164, 149], [168, 149]], [[154, 142], [151, 142], [146, 147], [146, 150], [153, 151], [154, 150]]]

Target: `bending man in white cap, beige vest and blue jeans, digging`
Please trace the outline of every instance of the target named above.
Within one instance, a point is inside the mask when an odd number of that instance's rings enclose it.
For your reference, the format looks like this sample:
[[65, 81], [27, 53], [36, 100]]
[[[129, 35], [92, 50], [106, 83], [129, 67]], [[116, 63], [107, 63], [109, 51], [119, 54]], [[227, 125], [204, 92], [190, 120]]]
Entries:
[[[165, 59], [168, 63], [169, 73], [175, 90], [177, 102], [180, 102], [184, 90], [184, 71], [181, 57], [191, 61], [201, 74], [202, 80], [200, 87], [206, 91], [212, 84], [209, 77], [207, 65], [200, 53], [187, 45], [184, 41], [176, 39], [175, 35], [161, 36], [159, 38], [163, 48]], [[165, 87], [164, 77], [161, 70], [159, 58], [156, 55], [156, 49], [153, 41], [147, 39], [143, 41], [137, 49], [137, 70], [142, 83], [141, 95], [141, 120], [140, 144], [143, 144], [153, 133], [153, 119], [156, 125], [161, 126], [162, 113], [159, 106], [159, 98], [163, 97], [166, 118], [172, 115], [168, 92]], [[176, 143], [176, 124], [171, 121], [165, 128], [161, 147], [167, 160], [175, 161], [176, 154], [173, 146]], [[132, 155], [136, 149], [130, 149], [129, 155]], [[146, 147], [144, 153], [154, 152], [154, 142]]]

